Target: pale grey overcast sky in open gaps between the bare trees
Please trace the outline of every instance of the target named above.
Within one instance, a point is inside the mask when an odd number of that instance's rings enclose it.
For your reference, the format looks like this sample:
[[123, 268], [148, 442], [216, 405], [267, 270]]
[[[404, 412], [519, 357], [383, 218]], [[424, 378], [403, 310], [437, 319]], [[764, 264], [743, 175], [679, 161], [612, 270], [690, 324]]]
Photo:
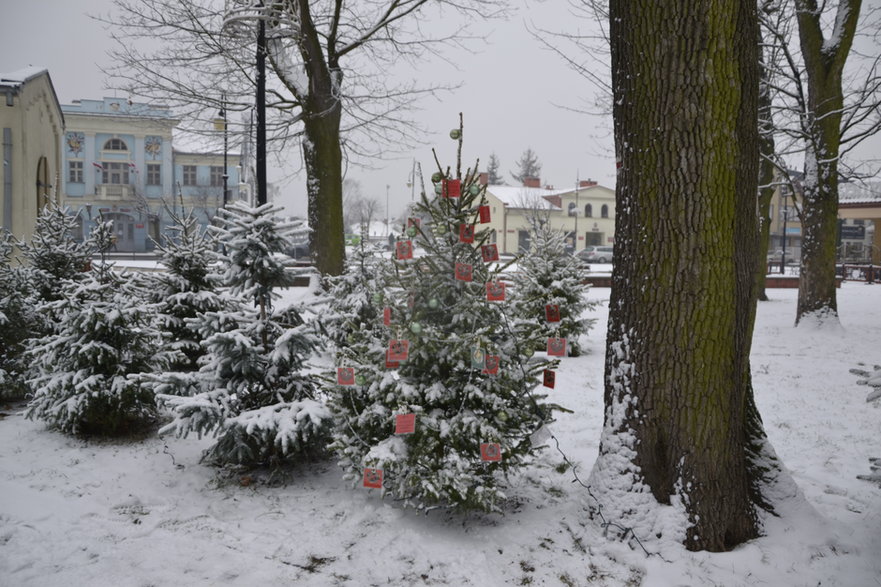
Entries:
[[[511, 18], [482, 26], [488, 36], [480, 52], [446, 54], [458, 69], [437, 61], [410, 72], [463, 84], [453, 93], [421, 103], [418, 122], [432, 133], [425, 137], [427, 145], [399, 160], [377, 161], [374, 170], [348, 168], [347, 177], [360, 181], [364, 195], [376, 198], [382, 207], [389, 186], [393, 217], [410, 201], [407, 180], [414, 159], [430, 175], [431, 146], [435, 146], [443, 164], [455, 163], [455, 143], [448, 133], [457, 126], [459, 112], [465, 117], [463, 165], [479, 157], [485, 168], [489, 154], [495, 152], [503, 175], [512, 183], [509, 172], [530, 147], [541, 161], [544, 184], [565, 188], [578, 177], [614, 187], [610, 118], [560, 107], [591, 101], [594, 87], [544, 49], [526, 26], [574, 30], [587, 23], [573, 20], [564, 0], [512, 0], [511, 4], [517, 9]], [[87, 15], [108, 13], [111, 0], [0, 0], [0, 7], [0, 72], [29, 65], [47, 68], [62, 104], [114, 95], [105, 89], [108, 84], [101, 71], [108, 65], [106, 52], [112, 42], [103, 25]], [[296, 168], [299, 154], [291, 152], [289, 159], [288, 167]], [[271, 170], [270, 181], [281, 175]], [[305, 212], [304, 183], [301, 175], [282, 185], [279, 203], [291, 213]]]

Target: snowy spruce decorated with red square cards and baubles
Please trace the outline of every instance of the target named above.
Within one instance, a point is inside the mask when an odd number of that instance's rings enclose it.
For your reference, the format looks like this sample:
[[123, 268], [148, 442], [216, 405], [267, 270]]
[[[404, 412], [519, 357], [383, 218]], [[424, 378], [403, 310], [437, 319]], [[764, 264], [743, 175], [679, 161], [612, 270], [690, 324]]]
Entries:
[[[498, 511], [499, 474], [538, 450], [531, 435], [551, 419], [555, 406], [534, 389], [553, 363], [530, 360], [540, 335], [516, 331], [505, 302], [487, 299], [499, 274], [482, 257], [497, 258], [478, 224], [485, 192], [460, 170], [433, 176], [439, 194], [422, 195], [423, 221], [407, 228], [383, 297], [371, 299], [388, 308], [377, 316], [388, 317], [385, 341], [358, 330], [364, 362], [339, 356], [332, 446], [348, 478], [408, 506]], [[399, 422], [412, 432], [396, 433]]]

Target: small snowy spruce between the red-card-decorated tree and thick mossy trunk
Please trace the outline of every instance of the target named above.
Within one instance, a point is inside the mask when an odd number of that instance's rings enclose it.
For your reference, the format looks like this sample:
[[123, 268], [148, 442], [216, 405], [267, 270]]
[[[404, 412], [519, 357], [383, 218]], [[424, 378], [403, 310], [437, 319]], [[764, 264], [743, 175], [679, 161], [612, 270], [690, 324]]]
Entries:
[[596, 303], [587, 300], [590, 285], [584, 283], [581, 261], [566, 254], [564, 234], [540, 220], [533, 223], [529, 251], [518, 260], [511, 308], [543, 338], [565, 338], [569, 355], [577, 357], [579, 338], [595, 322], [582, 315]]

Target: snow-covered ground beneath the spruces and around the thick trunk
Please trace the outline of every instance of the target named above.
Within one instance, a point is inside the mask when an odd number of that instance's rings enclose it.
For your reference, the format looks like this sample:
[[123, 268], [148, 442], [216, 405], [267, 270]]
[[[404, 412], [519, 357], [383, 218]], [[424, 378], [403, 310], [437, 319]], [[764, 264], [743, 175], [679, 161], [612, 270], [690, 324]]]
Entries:
[[[510, 479], [504, 515], [423, 515], [351, 487], [333, 462], [285, 484], [221, 477], [199, 464], [207, 439], [85, 442], [5, 406], [0, 585], [881, 585], [881, 487], [856, 478], [881, 456], [881, 400], [866, 403], [849, 372], [881, 363], [881, 285], [845, 283], [832, 330], [793, 328], [797, 291], [769, 293], [756, 398], [801, 493], [733, 552], [639, 536], [662, 555], [646, 556], [604, 537], [553, 447]], [[590, 295], [607, 302], [609, 290]], [[574, 410], [553, 432], [582, 480], [602, 424], [607, 310], [551, 392]]]

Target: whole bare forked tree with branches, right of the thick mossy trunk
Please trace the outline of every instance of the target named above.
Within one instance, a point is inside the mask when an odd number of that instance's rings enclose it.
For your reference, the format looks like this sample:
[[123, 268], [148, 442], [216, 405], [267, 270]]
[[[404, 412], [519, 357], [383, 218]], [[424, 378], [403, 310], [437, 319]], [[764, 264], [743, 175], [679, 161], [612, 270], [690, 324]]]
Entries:
[[[881, 130], [881, 56], [855, 53], [853, 42], [860, 28], [877, 34], [878, 22], [871, 22], [876, 15], [870, 13], [858, 27], [860, 0], [822, 5], [770, 0], [764, 7], [766, 43], [779, 57], [766, 64], [777, 139], [774, 161], [782, 182], [799, 196], [795, 209], [803, 227], [796, 323], [806, 315], [837, 321], [838, 184], [865, 175], [846, 157]], [[796, 182], [789, 162], [798, 158], [804, 172]]]

